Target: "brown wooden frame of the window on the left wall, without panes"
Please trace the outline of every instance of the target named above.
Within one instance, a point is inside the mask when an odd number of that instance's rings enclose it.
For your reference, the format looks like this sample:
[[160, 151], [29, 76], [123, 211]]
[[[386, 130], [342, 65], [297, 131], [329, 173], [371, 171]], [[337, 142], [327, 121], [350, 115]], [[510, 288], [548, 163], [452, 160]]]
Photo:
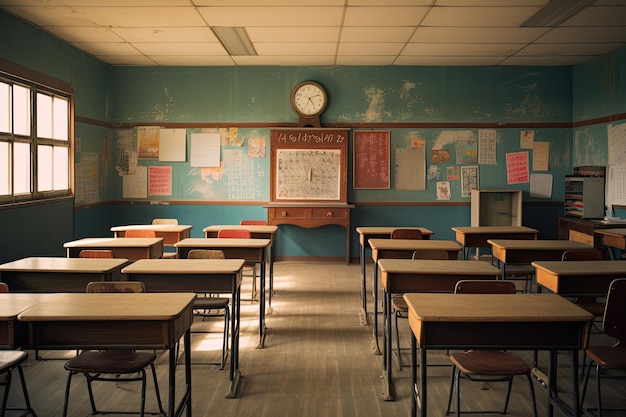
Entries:
[[[13, 184], [13, 169], [9, 169], [9, 180], [11, 181], [10, 193], [0, 195], [0, 207], [12, 204], [40, 203], [51, 199], [73, 198], [74, 196], [74, 91], [69, 83], [50, 77], [48, 75], [33, 71], [32, 69], [21, 67], [18, 64], [10, 63], [0, 58], [0, 82], [10, 85], [26, 87], [30, 92], [30, 134], [28, 136], [17, 135], [13, 132], [0, 132], [0, 141], [9, 144], [10, 163], [14, 163], [13, 144], [27, 143], [30, 146], [30, 191], [28, 193], [16, 194]], [[67, 140], [38, 138], [37, 137], [37, 95], [44, 94], [50, 97], [58, 97], [68, 102], [68, 125]], [[37, 147], [39, 145], [67, 148], [68, 164], [68, 184], [67, 189], [38, 190], [38, 159]], [[54, 170], [54, 165], [53, 165]]]

